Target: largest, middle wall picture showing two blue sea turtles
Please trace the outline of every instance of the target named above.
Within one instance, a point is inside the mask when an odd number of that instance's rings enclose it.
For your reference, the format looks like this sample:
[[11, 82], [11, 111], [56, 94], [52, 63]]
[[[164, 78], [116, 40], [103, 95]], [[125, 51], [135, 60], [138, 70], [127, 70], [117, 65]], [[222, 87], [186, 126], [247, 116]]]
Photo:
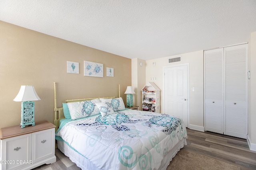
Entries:
[[103, 64], [84, 61], [84, 76], [103, 77]]

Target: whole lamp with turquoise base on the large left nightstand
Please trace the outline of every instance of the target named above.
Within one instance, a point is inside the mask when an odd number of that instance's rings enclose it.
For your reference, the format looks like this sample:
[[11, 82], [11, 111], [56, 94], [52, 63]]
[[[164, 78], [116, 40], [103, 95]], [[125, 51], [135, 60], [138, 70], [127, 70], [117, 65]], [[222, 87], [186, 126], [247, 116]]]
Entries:
[[35, 102], [33, 100], [41, 100], [36, 94], [34, 86], [21, 86], [19, 93], [14, 98], [15, 102], [21, 102], [21, 128], [26, 125], [35, 125]]

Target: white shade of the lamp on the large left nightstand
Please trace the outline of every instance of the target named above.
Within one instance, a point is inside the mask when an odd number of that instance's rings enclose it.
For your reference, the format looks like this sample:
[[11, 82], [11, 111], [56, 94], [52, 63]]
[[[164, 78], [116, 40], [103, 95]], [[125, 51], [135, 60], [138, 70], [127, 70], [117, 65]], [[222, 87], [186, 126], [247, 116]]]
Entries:
[[41, 100], [36, 94], [34, 86], [20, 86], [20, 91], [14, 98], [15, 102]]

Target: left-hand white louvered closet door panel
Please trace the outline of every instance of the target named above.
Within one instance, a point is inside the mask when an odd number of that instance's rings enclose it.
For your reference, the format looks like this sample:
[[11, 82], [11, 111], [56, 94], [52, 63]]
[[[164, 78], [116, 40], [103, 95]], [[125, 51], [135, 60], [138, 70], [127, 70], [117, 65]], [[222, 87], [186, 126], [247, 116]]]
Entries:
[[204, 130], [223, 134], [224, 50], [204, 51]]

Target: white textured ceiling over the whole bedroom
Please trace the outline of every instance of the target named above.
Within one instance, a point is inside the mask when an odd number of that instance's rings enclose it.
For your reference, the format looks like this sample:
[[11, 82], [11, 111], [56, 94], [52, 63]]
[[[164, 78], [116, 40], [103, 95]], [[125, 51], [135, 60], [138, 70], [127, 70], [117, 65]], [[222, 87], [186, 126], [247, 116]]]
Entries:
[[249, 41], [256, 0], [0, 0], [0, 20], [149, 60]]

